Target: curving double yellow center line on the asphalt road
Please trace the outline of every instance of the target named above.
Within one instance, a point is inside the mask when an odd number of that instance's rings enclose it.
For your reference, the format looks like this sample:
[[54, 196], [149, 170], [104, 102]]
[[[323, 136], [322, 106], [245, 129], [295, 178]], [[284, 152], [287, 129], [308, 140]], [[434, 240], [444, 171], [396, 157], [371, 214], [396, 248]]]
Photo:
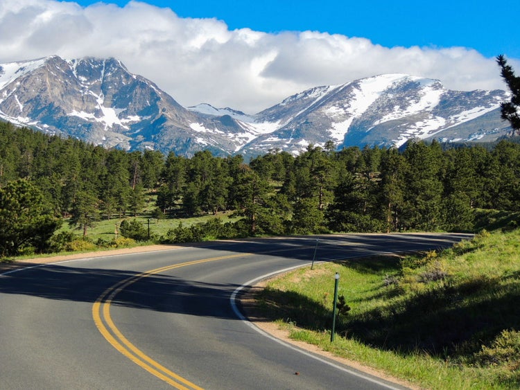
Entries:
[[114, 348], [116, 348], [116, 350], [122, 353], [125, 357], [128, 357], [128, 359], [130, 359], [138, 366], [141, 366], [149, 373], [155, 375], [157, 378], [164, 380], [164, 382], [171, 384], [171, 386], [175, 387], [176, 389], [201, 390], [201, 387], [198, 387], [196, 384], [189, 382], [189, 380], [186, 380], [173, 371], [170, 371], [166, 367], [162, 366], [162, 364], [159, 364], [159, 362], [156, 362], [151, 357], [143, 353], [134, 344], [129, 342], [123, 333], [121, 333], [121, 331], [115, 326], [114, 321], [112, 321], [112, 317], [110, 317], [110, 305], [114, 300], [114, 297], [119, 294], [119, 292], [125, 290], [126, 287], [141, 280], [142, 278], [159, 274], [161, 272], [166, 272], [175, 268], [187, 267], [188, 265], [209, 263], [216, 260], [251, 255], [252, 254], [234, 254], [229, 256], [205, 258], [202, 260], [193, 260], [186, 263], [151, 269], [150, 271], [126, 278], [125, 280], [112, 285], [112, 287], [107, 288], [107, 290], [105, 290], [105, 292], [103, 292], [103, 294], [101, 294], [98, 299], [96, 299], [96, 302], [92, 306], [92, 317], [94, 318], [94, 323], [96, 323], [96, 327], [98, 328], [101, 335], [105, 337], [107, 342], [112, 344], [112, 346], [114, 346]]

